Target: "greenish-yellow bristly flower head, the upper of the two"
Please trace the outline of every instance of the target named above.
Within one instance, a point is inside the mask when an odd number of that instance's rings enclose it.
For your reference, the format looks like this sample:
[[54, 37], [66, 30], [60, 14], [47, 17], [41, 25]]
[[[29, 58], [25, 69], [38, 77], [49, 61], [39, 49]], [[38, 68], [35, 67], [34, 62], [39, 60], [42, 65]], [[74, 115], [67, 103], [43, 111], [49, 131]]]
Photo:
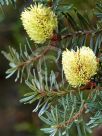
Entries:
[[31, 40], [35, 43], [44, 43], [53, 36], [57, 28], [57, 17], [50, 7], [42, 4], [31, 5], [21, 14], [23, 26]]

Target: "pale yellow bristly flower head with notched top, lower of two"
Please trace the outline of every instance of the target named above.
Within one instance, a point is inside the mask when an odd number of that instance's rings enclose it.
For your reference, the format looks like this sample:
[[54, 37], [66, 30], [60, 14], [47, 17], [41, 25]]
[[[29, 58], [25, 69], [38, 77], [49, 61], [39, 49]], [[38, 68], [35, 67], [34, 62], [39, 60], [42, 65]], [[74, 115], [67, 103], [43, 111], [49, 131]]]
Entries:
[[77, 49], [76, 52], [68, 49], [64, 51], [62, 65], [66, 79], [73, 87], [85, 85], [97, 71], [96, 56], [89, 47], [85, 46]]

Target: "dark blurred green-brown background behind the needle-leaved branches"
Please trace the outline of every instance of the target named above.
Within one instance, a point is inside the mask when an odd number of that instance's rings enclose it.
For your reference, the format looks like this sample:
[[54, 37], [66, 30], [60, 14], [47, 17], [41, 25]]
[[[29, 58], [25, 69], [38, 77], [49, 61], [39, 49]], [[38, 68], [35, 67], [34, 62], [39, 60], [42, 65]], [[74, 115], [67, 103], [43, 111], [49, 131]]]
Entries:
[[[68, 0], [81, 12], [92, 10], [96, 0]], [[20, 13], [30, 0], [18, 0], [15, 7], [0, 6], [0, 52], [8, 46], [19, 48], [26, 42], [26, 34], [20, 21]], [[32, 113], [34, 105], [20, 104], [19, 99], [29, 88], [14, 82], [14, 77], [5, 79], [8, 62], [0, 55], [0, 136], [45, 136], [39, 129], [43, 123]]]

